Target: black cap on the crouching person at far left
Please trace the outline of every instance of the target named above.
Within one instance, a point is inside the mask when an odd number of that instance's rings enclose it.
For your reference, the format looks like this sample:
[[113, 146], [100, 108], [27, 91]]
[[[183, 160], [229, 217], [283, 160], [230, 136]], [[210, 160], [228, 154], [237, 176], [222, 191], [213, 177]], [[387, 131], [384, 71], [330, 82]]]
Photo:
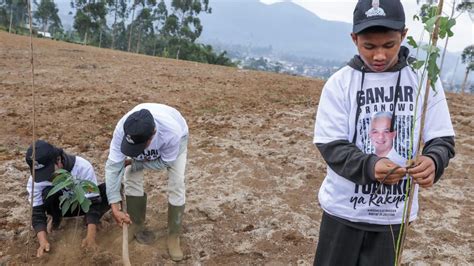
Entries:
[[35, 163], [33, 166], [33, 146], [30, 145], [26, 151], [25, 160], [33, 174], [35, 170], [35, 182], [51, 181], [54, 173], [54, 164], [56, 158], [61, 154], [61, 150], [47, 143], [44, 140], [38, 140], [35, 143]]

